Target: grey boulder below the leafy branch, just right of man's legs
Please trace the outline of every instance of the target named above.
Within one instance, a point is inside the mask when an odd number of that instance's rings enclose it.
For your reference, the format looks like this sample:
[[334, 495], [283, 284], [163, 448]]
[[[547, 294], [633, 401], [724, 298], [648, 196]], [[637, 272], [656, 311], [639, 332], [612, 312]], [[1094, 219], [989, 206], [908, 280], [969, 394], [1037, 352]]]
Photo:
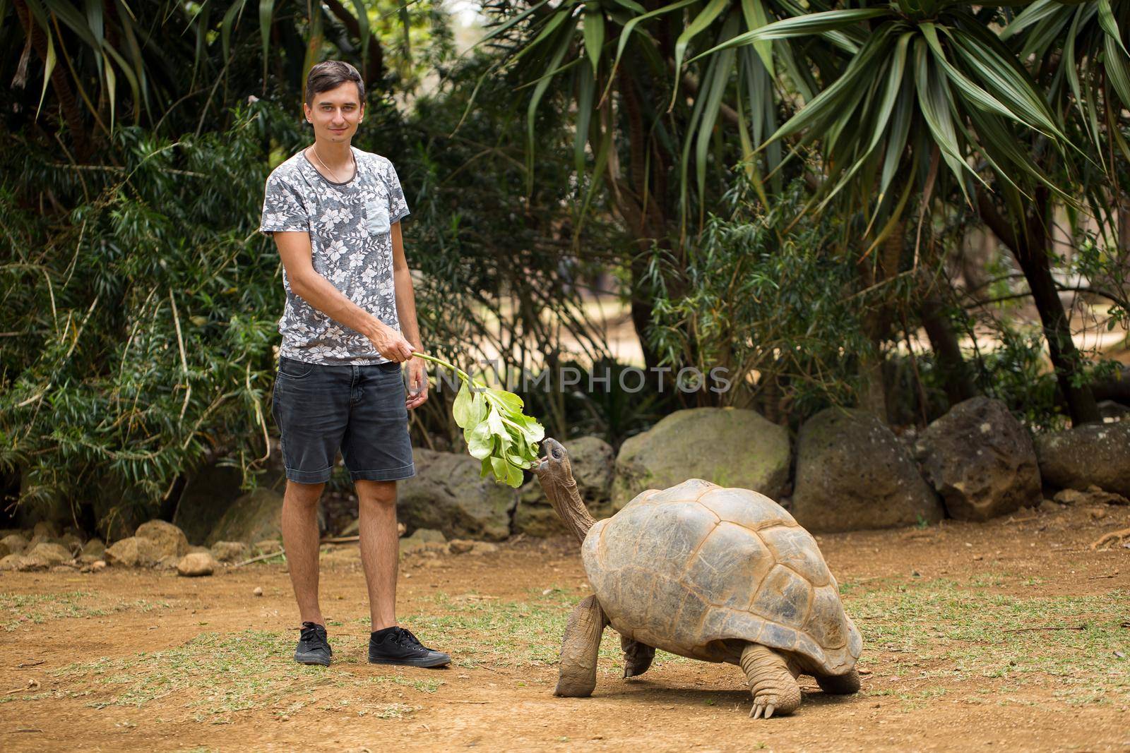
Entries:
[[436, 528], [447, 539], [510, 535], [516, 493], [493, 476], [479, 478], [481, 464], [464, 453], [414, 449], [416, 475], [398, 487], [398, 515], [409, 528]]

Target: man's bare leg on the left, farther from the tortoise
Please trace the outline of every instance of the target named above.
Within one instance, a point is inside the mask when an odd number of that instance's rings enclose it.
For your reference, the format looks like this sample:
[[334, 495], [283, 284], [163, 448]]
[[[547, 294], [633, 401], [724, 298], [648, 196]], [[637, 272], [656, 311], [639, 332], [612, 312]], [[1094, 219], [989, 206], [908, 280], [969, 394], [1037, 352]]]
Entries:
[[318, 500], [322, 483], [286, 482], [282, 497], [282, 546], [294, 598], [303, 622], [325, 624], [318, 605]]

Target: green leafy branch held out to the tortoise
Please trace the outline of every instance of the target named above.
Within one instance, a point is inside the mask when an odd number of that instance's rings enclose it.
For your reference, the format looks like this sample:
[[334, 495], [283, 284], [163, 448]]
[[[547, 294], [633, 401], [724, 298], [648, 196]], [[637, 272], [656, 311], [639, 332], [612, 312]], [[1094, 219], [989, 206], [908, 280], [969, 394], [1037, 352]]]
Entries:
[[499, 483], [515, 489], [522, 485], [522, 471], [538, 464], [538, 443], [546, 436], [545, 427], [522, 413], [522, 399], [512, 392], [488, 387], [447, 361], [424, 353], [412, 354], [459, 375], [462, 384], [451, 411], [463, 430], [467, 450], [483, 462], [480, 475], [493, 473]]

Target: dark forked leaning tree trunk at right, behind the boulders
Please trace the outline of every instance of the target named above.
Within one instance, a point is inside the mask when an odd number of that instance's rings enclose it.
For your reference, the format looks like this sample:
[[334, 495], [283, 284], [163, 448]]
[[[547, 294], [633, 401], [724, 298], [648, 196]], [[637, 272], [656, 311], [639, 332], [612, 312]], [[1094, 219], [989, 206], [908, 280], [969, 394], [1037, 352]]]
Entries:
[[1083, 358], [1076, 350], [1071, 339], [1071, 325], [1063, 310], [1063, 301], [1055, 290], [1052, 278], [1051, 262], [1048, 253], [1048, 189], [1040, 186], [1035, 191], [1033, 213], [1024, 218], [1027, 233], [1018, 234], [997, 211], [983, 189], [977, 190], [977, 208], [981, 217], [1001, 243], [1009, 247], [1024, 272], [1032, 291], [1032, 300], [1040, 312], [1044, 338], [1048, 341], [1048, 354], [1055, 368], [1055, 379], [1067, 400], [1071, 423], [1097, 423], [1102, 421], [1095, 395], [1089, 385], [1076, 382], [1081, 376]]

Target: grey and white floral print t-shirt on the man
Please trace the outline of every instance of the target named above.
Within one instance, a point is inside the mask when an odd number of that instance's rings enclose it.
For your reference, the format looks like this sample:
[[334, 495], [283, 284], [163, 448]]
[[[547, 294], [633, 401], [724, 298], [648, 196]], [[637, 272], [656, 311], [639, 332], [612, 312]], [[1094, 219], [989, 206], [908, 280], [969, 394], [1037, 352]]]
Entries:
[[[305, 155], [294, 155], [267, 178], [260, 233], [310, 234], [314, 271], [346, 298], [400, 331], [392, 280], [392, 224], [408, 214], [392, 163], [353, 149], [356, 174], [334, 183]], [[307, 304], [282, 271], [286, 308], [279, 319], [281, 356], [307, 364], [366, 365], [389, 359], [359, 332]]]

